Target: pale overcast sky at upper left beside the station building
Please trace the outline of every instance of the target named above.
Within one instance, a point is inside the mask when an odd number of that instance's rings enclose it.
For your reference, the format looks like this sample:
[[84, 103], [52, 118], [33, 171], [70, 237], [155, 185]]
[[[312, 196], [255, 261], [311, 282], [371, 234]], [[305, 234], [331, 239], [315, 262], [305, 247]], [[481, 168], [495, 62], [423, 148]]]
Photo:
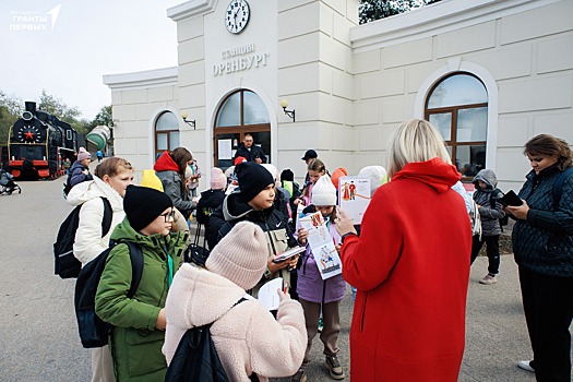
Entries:
[[46, 89], [82, 118], [111, 105], [105, 74], [177, 65], [184, 0], [1, 0], [0, 91], [39, 102]]

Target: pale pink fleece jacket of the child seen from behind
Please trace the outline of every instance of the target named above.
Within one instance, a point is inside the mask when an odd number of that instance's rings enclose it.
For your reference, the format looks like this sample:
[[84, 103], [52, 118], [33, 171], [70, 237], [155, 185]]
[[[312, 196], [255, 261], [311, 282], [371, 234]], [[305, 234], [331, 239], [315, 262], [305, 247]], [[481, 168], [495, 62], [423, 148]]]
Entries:
[[243, 296], [244, 289], [223, 276], [187, 263], [181, 265], [165, 303], [163, 353], [167, 363], [188, 329], [214, 322], [211, 336], [229, 380], [248, 382], [253, 372], [262, 382], [293, 375], [307, 348], [302, 307], [285, 299], [275, 320], [258, 300], [234, 307]]

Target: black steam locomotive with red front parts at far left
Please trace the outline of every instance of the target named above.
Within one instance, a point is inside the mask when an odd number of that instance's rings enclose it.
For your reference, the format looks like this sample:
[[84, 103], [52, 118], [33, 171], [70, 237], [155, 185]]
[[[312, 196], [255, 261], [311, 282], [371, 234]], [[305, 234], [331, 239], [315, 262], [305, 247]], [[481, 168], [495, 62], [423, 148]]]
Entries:
[[9, 131], [3, 167], [16, 178], [55, 179], [65, 172], [65, 158], [75, 160], [74, 153], [85, 146], [85, 139], [56, 116], [36, 110], [36, 103], [25, 105], [22, 118]]

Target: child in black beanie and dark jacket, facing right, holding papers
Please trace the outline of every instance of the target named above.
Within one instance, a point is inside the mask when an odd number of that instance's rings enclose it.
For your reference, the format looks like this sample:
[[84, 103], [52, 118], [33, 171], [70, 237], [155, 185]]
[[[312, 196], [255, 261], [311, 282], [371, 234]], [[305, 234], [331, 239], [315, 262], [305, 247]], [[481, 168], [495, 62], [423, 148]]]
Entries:
[[237, 170], [239, 188], [228, 194], [223, 205], [211, 215], [211, 226], [207, 230], [208, 246], [211, 249], [216, 247], [239, 222], [256, 224], [263, 231], [268, 232], [265, 235], [268, 243], [268, 260], [264, 277], [249, 293], [256, 297], [264, 283], [275, 277], [283, 277], [285, 286], [294, 296], [296, 291], [291, 284], [290, 271], [296, 267], [298, 255], [280, 263], [273, 262], [277, 254], [297, 246], [297, 240], [287, 224], [288, 217], [273, 207], [275, 180], [267, 169], [253, 162], [238, 165]]

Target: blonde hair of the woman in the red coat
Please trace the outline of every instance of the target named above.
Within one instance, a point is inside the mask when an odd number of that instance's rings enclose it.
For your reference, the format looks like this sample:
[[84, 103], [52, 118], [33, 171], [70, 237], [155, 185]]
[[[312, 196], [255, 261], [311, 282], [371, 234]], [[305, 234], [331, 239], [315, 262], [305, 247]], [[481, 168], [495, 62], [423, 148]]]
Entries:
[[402, 123], [390, 142], [387, 163], [390, 178], [414, 162], [426, 162], [439, 157], [452, 164], [442, 135], [423, 119], [410, 119]]

